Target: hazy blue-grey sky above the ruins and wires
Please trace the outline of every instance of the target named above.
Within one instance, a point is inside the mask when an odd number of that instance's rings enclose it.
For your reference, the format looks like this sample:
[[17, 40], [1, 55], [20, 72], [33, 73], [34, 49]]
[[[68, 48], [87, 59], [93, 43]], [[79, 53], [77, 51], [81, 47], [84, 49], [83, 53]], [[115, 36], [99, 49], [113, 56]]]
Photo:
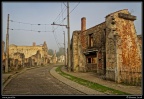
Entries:
[[[6, 42], [9, 14], [9, 44], [18, 46], [41, 45], [58, 51], [68, 42], [67, 2], [2, 2], [2, 40]], [[134, 21], [137, 34], [142, 34], [142, 2], [69, 2], [70, 39], [75, 30], [81, 29], [81, 18], [86, 17], [86, 28], [105, 21], [105, 16], [128, 9], [137, 17]], [[61, 24], [51, 25], [52, 23]]]

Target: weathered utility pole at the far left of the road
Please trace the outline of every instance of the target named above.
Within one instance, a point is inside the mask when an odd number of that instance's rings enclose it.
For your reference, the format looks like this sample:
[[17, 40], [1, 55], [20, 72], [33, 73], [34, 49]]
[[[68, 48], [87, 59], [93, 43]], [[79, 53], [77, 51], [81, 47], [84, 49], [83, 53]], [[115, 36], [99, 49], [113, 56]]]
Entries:
[[5, 64], [5, 72], [8, 72], [8, 63], [9, 63], [9, 14], [7, 18], [7, 34], [6, 34], [6, 64]]

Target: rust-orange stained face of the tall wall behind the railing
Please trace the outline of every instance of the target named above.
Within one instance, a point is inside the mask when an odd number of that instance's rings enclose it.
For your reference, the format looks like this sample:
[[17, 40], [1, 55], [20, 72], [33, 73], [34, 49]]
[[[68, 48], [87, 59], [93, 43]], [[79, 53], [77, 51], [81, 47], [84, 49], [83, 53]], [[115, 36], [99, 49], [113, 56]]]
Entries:
[[[125, 11], [125, 13], [129, 12]], [[121, 39], [121, 44], [118, 46], [121, 50], [118, 52], [120, 81], [140, 85], [142, 80], [142, 59], [134, 22], [116, 18], [116, 27], [119, 27], [117, 32]]]

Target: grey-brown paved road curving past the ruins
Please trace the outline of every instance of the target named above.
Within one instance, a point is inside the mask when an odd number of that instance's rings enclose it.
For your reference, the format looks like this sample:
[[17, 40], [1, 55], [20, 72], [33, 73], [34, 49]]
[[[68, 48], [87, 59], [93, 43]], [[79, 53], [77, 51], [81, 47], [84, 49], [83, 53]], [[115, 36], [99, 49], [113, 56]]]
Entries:
[[4, 95], [83, 95], [84, 93], [55, 79], [45, 66], [27, 70], [13, 78], [4, 88]]

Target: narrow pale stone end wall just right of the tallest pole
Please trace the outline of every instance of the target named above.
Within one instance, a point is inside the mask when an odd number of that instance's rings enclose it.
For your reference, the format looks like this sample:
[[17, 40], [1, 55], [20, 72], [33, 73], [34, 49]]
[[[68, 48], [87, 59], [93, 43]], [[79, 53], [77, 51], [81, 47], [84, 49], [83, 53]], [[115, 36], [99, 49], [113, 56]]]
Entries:
[[71, 68], [73, 72], [86, 71], [86, 58], [83, 54], [79, 33], [80, 31], [74, 31], [71, 40]]

